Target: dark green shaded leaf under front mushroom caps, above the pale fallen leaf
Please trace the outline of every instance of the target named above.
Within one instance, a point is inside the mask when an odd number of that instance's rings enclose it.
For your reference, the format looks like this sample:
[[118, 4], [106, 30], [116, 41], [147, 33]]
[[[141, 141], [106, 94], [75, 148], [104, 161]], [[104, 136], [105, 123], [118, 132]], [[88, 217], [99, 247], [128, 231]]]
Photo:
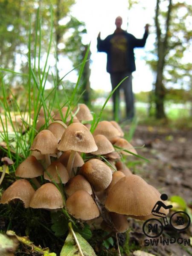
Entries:
[[68, 221], [61, 212], [51, 213], [52, 226], [55, 236], [63, 236], [68, 230]]

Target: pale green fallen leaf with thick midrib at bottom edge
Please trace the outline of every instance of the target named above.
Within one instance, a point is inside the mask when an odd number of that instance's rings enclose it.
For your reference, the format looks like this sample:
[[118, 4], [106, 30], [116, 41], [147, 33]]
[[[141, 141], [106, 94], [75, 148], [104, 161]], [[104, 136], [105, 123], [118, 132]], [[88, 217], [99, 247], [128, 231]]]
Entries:
[[[84, 256], [96, 256], [90, 244], [79, 233], [75, 232], [75, 234]], [[60, 256], [81, 256], [72, 233], [67, 236]]]

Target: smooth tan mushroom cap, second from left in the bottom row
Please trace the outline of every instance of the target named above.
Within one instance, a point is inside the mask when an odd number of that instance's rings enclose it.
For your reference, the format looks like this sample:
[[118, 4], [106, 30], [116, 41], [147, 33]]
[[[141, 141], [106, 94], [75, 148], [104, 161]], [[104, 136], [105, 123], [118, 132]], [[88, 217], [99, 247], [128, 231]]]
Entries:
[[58, 188], [52, 183], [45, 183], [35, 191], [30, 207], [43, 209], [58, 209], [64, 207], [63, 198]]

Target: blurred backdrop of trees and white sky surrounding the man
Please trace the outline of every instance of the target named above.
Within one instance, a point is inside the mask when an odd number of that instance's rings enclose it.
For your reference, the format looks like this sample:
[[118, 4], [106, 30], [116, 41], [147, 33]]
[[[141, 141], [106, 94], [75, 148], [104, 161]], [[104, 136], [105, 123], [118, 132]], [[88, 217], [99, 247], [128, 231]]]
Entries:
[[[47, 91], [52, 88], [52, 74], [61, 79], [81, 63], [90, 43], [90, 53], [81, 79], [86, 90], [81, 102], [99, 111], [111, 91], [110, 76], [106, 72], [106, 54], [96, 49], [96, 38], [115, 30], [115, 18], [123, 18], [122, 29], [142, 38], [144, 26], [150, 24], [145, 48], [136, 48], [136, 72], [133, 73], [137, 117], [139, 122], [155, 119], [175, 121], [180, 126], [191, 125], [192, 116], [192, 6], [189, 0], [1, 0], [0, 1], [0, 65], [6, 72], [5, 81], [20, 101], [25, 99], [28, 73], [29, 16], [31, 22], [31, 56], [33, 65], [44, 68], [50, 41], [51, 12], [53, 9], [53, 41], [48, 59]], [[35, 46], [37, 9], [41, 17], [41, 53]], [[39, 55], [34, 63], [34, 56]], [[38, 61], [39, 59], [39, 61]], [[39, 62], [39, 63], [38, 63]], [[68, 93], [78, 79], [79, 68], [62, 80]], [[157, 79], [157, 77], [159, 79]], [[58, 85], [58, 90], [62, 86]], [[121, 95], [121, 107], [125, 103]], [[112, 101], [108, 102], [105, 119], [112, 118]], [[122, 116], [123, 117], [123, 116]], [[167, 119], [168, 118], [168, 119]], [[187, 121], [186, 121], [187, 120]], [[165, 121], [164, 121], [165, 122]], [[191, 126], [190, 126], [191, 127]]]

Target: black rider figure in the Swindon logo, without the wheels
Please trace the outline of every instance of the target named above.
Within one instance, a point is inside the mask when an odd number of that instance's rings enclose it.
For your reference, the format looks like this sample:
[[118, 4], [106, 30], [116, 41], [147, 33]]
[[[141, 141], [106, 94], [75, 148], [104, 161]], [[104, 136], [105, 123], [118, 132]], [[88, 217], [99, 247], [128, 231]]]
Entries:
[[[166, 201], [168, 199], [168, 196], [166, 194], [162, 194], [160, 196], [160, 198], [161, 198], [161, 200]], [[152, 215], [157, 216], [157, 217], [162, 217], [164, 225], [168, 226], [169, 223], [168, 223], [166, 214], [163, 213], [163, 212], [160, 212], [161, 207], [163, 207], [164, 209], [170, 209], [173, 206], [172, 205], [168, 205], [167, 206], [166, 204], [163, 204], [162, 201], [157, 201], [157, 203], [154, 205], [154, 207], [153, 207], [153, 209], [151, 211]]]

